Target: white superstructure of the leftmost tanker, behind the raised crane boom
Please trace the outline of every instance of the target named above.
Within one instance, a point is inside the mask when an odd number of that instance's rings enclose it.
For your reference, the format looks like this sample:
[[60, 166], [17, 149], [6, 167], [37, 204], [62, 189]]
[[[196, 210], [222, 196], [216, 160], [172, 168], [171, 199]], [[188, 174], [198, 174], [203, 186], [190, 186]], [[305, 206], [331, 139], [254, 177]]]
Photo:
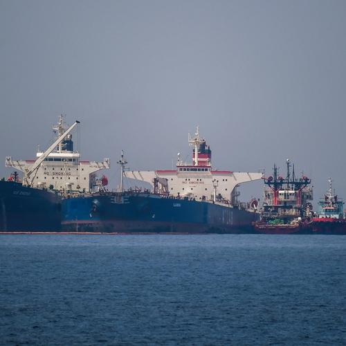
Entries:
[[39, 149], [36, 160], [14, 161], [11, 156], [7, 156], [6, 167], [24, 172], [24, 176], [26, 172], [30, 172], [26, 185], [31, 187], [63, 192], [98, 190], [100, 183], [95, 172], [109, 169], [109, 158], [104, 158], [101, 163], [80, 160], [80, 153], [73, 150], [72, 135], [70, 133], [65, 135], [68, 129], [69, 127], [64, 125], [61, 115], [59, 123], [53, 126], [53, 131], [55, 131], [56, 138], [64, 136], [64, 139], [44, 158], [36, 170], [32, 168], [44, 154]]

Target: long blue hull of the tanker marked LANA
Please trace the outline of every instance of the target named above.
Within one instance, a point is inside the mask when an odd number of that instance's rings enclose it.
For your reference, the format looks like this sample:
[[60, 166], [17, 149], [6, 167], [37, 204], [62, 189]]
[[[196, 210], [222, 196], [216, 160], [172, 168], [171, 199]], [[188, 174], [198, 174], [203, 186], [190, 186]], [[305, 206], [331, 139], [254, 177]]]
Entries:
[[62, 231], [81, 233], [253, 233], [259, 215], [156, 194], [99, 193], [62, 201]]

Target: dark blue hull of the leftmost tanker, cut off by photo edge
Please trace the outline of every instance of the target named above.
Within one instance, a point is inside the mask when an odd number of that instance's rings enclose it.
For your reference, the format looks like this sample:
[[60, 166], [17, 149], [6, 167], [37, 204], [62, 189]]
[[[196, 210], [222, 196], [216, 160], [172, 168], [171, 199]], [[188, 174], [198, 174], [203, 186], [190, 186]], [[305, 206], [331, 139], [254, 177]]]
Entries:
[[62, 197], [0, 181], [0, 232], [59, 232]]

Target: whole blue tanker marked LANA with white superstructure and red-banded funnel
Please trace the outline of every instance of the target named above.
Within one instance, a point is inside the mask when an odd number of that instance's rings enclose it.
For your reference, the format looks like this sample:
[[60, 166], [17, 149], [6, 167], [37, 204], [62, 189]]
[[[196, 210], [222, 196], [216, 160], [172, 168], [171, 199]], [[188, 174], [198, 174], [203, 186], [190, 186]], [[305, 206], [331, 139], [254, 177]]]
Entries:
[[[100, 233], [251, 233], [260, 217], [255, 208], [239, 203], [240, 183], [262, 173], [212, 170], [211, 150], [194, 138], [192, 163], [178, 154], [175, 170], [125, 172], [123, 153], [116, 191], [75, 194], [62, 201], [62, 230]], [[125, 190], [124, 178], [149, 183], [151, 188]]]

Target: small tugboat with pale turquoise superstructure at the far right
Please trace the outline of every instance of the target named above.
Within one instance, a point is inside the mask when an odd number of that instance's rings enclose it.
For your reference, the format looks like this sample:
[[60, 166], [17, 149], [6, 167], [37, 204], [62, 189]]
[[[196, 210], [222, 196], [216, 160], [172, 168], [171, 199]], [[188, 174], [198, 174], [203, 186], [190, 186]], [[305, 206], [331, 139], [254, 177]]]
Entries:
[[343, 199], [333, 192], [329, 178], [329, 190], [318, 202], [318, 215], [311, 219], [313, 234], [346, 235], [346, 219]]

